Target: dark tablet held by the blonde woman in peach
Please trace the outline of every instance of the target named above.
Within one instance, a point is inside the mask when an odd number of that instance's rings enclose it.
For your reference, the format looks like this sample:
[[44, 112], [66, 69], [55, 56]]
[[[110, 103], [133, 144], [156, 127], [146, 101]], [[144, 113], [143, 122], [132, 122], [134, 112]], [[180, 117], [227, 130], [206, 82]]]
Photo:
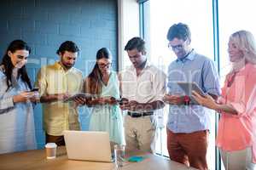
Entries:
[[201, 96], [206, 96], [206, 93], [197, 85], [196, 82], [177, 82], [177, 85], [183, 89], [183, 92], [189, 96], [191, 103], [194, 105], [199, 105], [195, 99], [192, 97], [192, 91], [197, 92]]

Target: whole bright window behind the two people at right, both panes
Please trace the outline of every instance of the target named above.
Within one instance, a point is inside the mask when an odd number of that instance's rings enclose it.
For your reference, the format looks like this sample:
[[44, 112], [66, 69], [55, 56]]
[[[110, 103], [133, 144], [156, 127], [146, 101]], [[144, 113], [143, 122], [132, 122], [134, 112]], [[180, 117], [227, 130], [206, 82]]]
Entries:
[[[145, 3], [144, 3], [145, 4]], [[183, 22], [189, 25], [192, 33], [191, 45], [200, 54], [218, 61], [221, 86], [224, 77], [230, 71], [227, 53], [229, 37], [239, 30], [251, 31], [256, 36], [256, 25], [253, 16], [256, 14], [256, 2], [252, 0], [150, 0], [144, 7], [143, 36], [148, 43], [148, 56], [154, 65], [167, 71], [168, 65], [176, 59], [175, 54], [167, 48], [166, 33], [174, 23]], [[148, 12], [149, 11], [149, 12]], [[213, 12], [213, 13], [212, 13]], [[212, 16], [214, 14], [214, 16]], [[214, 19], [213, 19], [214, 18]], [[213, 26], [214, 23], [214, 26]], [[214, 29], [213, 29], [214, 27]], [[214, 31], [213, 31], [214, 30]], [[214, 37], [214, 39], [213, 39]], [[160, 127], [157, 141], [157, 152], [168, 156], [166, 148], [166, 119], [168, 108], [165, 108], [163, 119], [159, 116]], [[207, 160], [210, 169], [219, 169], [216, 160], [215, 135], [217, 122], [215, 113], [209, 113], [212, 120]], [[217, 116], [218, 121], [218, 116]], [[217, 164], [215, 164], [217, 162]], [[217, 165], [217, 167], [215, 167]], [[224, 169], [222, 166], [221, 169]], [[256, 169], [256, 168], [255, 168]]]

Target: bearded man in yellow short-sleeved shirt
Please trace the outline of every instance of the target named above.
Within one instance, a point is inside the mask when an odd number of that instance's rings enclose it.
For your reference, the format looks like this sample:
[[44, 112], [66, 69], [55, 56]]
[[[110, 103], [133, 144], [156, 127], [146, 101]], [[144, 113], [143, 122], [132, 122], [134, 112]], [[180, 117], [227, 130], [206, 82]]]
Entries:
[[35, 87], [39, 88], [40, 101], [43, 103], [45, 142], [65, 145], [62, 131], [79, 130], [80, 126], [76, 103], [63, 100], [70, 94], [81, 92], [83, 76], [81, 71], [73, 67], [79, 53], [74, 42], [63, 42], [56, 53], [60, 61], [38, 71]]

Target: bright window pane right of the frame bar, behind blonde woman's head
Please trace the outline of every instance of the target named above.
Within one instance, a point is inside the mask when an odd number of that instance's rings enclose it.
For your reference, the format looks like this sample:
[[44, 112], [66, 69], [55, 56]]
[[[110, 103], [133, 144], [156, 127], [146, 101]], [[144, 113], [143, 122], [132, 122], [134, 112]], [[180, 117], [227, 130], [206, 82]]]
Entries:
[[[230, 71], [228, 42], [232, 33], [239, 30], [251, 31], [256, 35], [255, 16], [256, 2], [252, 0], [218, 1], [220, 75], [224, 82], [225, 75]], [[228, 11], [228, 12], [227, 12]]]

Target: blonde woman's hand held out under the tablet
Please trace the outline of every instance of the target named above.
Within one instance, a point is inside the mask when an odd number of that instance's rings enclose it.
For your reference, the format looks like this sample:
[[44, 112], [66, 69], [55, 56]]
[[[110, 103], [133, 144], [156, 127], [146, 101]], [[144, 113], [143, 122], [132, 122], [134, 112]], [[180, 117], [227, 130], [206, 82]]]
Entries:
[[195, 91], [192, 92], [192, 97], [200, 104], [209, 109], [217, 110], [217, 104], [212, 96], [206, 94], [206, 96], [201, 96], [201, 94], [196, 93]]

